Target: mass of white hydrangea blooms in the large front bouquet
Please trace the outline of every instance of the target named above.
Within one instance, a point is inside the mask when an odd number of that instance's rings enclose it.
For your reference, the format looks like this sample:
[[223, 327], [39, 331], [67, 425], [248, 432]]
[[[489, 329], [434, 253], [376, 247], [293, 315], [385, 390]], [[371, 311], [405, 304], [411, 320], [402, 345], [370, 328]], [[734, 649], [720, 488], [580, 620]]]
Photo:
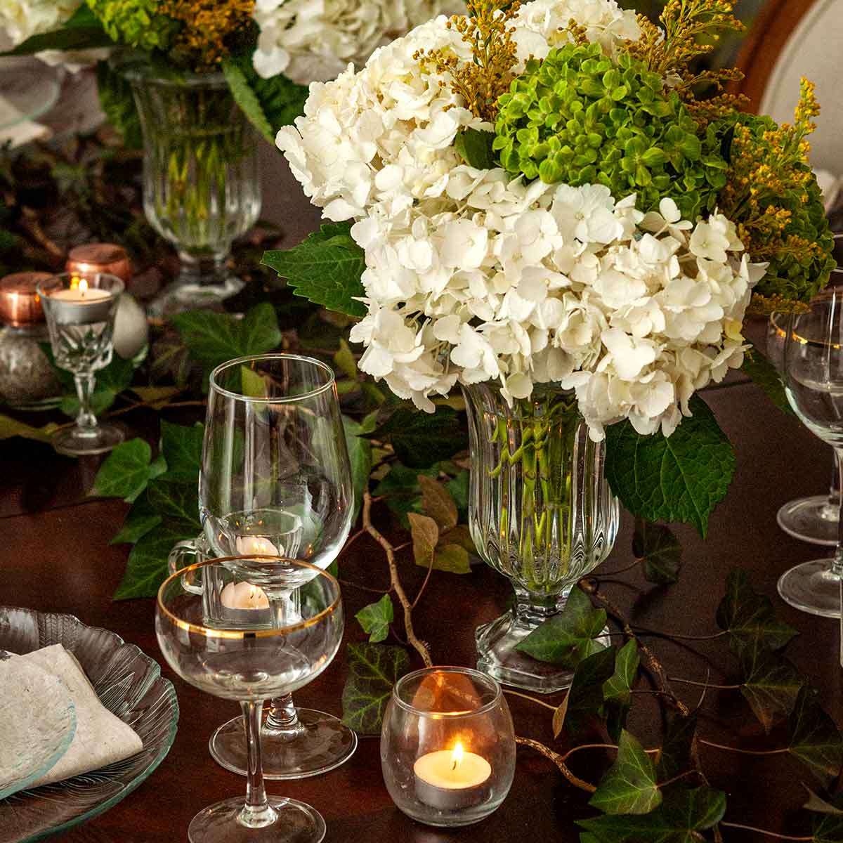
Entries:
[[[546, 53], [572, 18], [607, 52], [637, 35], [615, 0], [534, 0], [518, 13], [519, 51]], [[644, 215], [603, 185], [464, 164], [456, 133], [491, 126], [413, 58], [441, 47], [470, 61], [445, 24], [314, 83], [304, 116], [277, 136], [311, 201], [352, 220], [365, 250], [360, 368], [427, 411], [457, 382], [496, 381], [507, 400], [552, 382], [576, 390], [595, 440], [621, 419], [669, 435], [695, 390], [742, 362], [764, 266], [717, 212], [683, 220], [665, 199]]]

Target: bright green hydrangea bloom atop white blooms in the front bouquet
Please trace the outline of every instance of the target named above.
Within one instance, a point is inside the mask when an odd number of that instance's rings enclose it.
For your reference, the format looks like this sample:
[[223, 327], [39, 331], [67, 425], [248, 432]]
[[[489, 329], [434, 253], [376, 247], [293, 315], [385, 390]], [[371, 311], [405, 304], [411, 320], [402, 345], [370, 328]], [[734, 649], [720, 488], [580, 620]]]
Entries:
[[566, 45], [530, 60], [498, 99], [492, 148], [513, 175], [549, 184], [606, 185], [637, 194], [642, 211], [670, 196], [685, 219], [712, 210], [726, 184], [717, 144], [642, 62], [599, 45]]

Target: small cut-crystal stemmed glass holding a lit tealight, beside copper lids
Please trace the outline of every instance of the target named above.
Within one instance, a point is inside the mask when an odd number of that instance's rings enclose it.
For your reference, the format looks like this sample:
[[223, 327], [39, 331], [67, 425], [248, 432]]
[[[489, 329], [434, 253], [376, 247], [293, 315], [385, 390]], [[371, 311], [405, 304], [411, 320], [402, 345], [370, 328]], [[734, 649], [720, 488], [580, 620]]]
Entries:
[[120, 278], [105, 272], [62, 272], [37, 286], [50, 331], [56, 366], [73, 374], [79, 399], [76, 425], [56, 431], [53, 447], [59, 454], [104, 454], [121, 443], [119, 427], [99, 424], [91, 410], [94, 373], [111, 361]]

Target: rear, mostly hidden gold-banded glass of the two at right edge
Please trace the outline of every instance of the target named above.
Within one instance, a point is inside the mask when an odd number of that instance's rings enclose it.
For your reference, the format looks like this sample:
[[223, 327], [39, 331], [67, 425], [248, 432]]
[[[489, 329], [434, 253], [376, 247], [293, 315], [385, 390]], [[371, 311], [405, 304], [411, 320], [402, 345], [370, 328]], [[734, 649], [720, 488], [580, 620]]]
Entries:
[[[774, 313], [767, 325], [767, 354], [781, 374], [782, 352], [787, 336], [788, 314]], [[776, 513], [776, 522], [794, 539], [813, 545], [837, 544], [837, 516], [840, 512], [840, 486], [837, 461], [832, 454], [831, 482], [827, 495], [809, 495], [788, 501]]]

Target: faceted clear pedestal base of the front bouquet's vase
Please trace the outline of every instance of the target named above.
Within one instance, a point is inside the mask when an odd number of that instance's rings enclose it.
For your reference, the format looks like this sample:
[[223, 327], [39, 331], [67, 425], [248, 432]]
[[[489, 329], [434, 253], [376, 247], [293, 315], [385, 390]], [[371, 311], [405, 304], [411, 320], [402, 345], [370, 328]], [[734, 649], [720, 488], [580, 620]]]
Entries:
[[[519, 621], [513, 610], [491, 623], [478, 626], [475, 630], [477, 669], [502, 685], [513, 685], [537, 694], [552, 694], [570, 688], [574, 678], [572, 670], [540, 662], [516, 649], [536, 626], [538, 624]], [[604, 627], [595, 641], [609, 647], [608, 627]]]

